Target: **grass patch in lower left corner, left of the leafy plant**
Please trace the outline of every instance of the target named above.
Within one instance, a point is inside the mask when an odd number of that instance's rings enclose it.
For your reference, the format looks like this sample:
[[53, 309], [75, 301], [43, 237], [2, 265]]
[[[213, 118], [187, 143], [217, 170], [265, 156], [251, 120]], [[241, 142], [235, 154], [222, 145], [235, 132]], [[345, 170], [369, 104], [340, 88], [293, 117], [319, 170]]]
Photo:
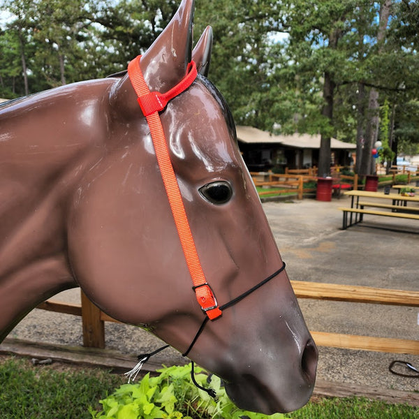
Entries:
[[89, 406], [99, 408], [122, 383], [100, 369], [34, 367], [29, 360], [3, 358], [0, 364], [1, 419], [88, 419]]

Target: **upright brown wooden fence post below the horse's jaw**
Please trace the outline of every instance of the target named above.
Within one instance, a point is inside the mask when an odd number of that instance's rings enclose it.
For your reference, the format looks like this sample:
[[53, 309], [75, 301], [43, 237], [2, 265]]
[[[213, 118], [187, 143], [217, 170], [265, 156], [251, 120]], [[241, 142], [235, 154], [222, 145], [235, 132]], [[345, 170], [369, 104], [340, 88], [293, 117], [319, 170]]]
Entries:
[[101, 310], [82, 293], [83, 346], [105, 348], [105, 322], [101, 320]]

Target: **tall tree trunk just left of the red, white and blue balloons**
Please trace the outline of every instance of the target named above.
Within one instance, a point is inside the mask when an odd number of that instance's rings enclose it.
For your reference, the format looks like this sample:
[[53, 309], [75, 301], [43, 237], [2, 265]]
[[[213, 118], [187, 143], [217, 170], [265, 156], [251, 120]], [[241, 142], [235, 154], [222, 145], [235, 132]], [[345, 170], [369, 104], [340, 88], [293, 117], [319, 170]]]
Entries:
[[[378, 54], [383, 51], [385, 34], [387, 31], [388, 17], [390, 16], [391, 0], [385, 0], [380, 10], [380, 22], [377, 31]], [[367, 128], [365, 130], [365, 144], [362, 152], [360, 175], [371, 175], [372, 172], [372, 147], [378, 138], [379, 104], [378, 91], [372, 88], [369, 91]], [[374, 165], [375, 166], [375, 165]]]

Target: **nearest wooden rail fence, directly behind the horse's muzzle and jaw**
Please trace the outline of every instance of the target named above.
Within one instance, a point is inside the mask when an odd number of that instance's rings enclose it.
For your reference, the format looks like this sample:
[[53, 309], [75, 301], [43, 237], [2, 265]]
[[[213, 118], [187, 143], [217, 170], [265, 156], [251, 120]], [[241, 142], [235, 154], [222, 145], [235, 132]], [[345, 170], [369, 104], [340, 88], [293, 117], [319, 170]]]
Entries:
[[[291, 281], [291, 284], [293, 285], [297, 298], [419, 307], [419, 292], [416, 291], [321, 284], [307, 281]], [[37, 308], [82, 316], [83, 345], [91, 348], [105, 348], [104, 322], [117, 322], [92, 304], [84, 293], [82, 293], [81, 304], [68, 304], [47, 300], [39, 304]], [[311, 335], [314, 337], [318, 346], [419, 355], [419, 340], [343, 335], [314, 331], [311, 331]]]

